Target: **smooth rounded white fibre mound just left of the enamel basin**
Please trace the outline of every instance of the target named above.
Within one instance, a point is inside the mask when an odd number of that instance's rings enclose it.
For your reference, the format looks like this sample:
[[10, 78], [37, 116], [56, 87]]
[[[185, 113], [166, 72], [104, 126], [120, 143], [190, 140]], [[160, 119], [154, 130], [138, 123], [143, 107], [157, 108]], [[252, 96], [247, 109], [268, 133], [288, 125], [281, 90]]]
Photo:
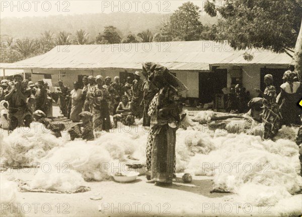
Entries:
[[41, 164], [48, 163], [82, 174], [86, 181], [101, 181], [109, 179], [110, 154], [104, 147], [90, 142], [72, 141], [62, 147], [53, 148], [47, 156], [41, 159]]

